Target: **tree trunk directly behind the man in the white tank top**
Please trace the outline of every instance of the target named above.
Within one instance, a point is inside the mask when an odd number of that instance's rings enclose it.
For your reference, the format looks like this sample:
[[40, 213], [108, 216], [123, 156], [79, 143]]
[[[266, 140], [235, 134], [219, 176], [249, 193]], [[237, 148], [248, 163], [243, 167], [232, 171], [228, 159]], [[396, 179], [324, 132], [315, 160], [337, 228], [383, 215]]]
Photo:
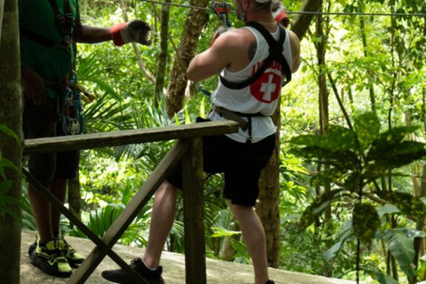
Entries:
[[[318, 11], [322, 0], [306, 0], [303, 11]], [[307, 17], [306, 17], [307, 16]], [[302, 40], [312, 21], [313, 15], [301, 15], [292, 25], [292, 31]], [[277, 126], [277, 142], [271, 160], [262, 170], [259, 180], [259, 198], [256, 212], [264, 225], [266, 236], [266, 253], [268, 265], [280, 265], [280, 102], [272, 115], [272, 121]]]

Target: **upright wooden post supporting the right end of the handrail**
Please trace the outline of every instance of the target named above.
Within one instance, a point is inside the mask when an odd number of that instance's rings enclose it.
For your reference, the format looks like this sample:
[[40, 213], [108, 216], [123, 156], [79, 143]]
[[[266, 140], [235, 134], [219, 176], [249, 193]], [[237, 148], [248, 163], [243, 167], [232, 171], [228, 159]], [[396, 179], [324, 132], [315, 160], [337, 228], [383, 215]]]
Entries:
[[182, 159], [182, 170], [186, 284], [206, 284], [201, 138], [191, 139], [190, 150]]

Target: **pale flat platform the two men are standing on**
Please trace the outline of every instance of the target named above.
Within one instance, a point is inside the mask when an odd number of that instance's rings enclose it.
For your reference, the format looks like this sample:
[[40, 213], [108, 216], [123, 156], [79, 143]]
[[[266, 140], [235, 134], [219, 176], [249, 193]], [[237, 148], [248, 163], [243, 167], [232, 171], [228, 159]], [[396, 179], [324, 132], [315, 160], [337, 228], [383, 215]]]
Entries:
[[[40, 272], [29, 262], [28, 247], [35, 241], [35, 232], [22, 232], [21, 259], [20, 259], [20, 283], [22, 284], [59, 284], [67, 283], [67, 279], [54, 278]], [[83, 255], [91, 252], [94, 244], [85, 239], [67, 237], [71, 245]], [[114, 251], [128, 262], [143, 253], [142, 248], [131, 248], [115, 245]], [[164, 252], [162, 257], [163, 278], [166, 284], [185, 284], [185, 256]], [[86, 283], [108, 284], [100, 276], [100, 272], [108, 269], [118, 269], [114, 262], [106, 257]], [[272, 279], [276, 284], [354, 284], [355, 281], [328, 279], [321, 276], [309, 275], [297, 272], [270, 269]], [[229, 262], [207, 259], [207, 283], [209, 284], [252, 284], [253, 270], [251, 265], [233, 264]]]

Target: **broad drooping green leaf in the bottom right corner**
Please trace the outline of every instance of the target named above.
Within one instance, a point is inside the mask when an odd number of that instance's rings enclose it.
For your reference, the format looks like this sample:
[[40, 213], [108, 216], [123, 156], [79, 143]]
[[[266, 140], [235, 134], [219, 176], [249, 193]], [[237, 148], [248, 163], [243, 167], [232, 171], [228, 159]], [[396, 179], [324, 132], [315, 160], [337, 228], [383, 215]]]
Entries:
[[413, 239], [408, 238], [403, 232], [394, 230], [389, 230], [383, 235], [383, 238], [386, 240], [390, 253], [397, 260], [401, 270], [406, 273], [407, 277], [414, 278]]

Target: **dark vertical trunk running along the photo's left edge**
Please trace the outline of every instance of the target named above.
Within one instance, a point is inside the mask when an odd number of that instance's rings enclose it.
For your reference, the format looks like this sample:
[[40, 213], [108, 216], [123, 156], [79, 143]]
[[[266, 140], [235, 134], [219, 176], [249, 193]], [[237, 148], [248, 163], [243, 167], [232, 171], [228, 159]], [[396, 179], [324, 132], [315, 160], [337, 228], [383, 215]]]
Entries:
[[[5, 0], [1, 27], [3, 31], [0, 43], [0, 123], [22, 138], [18, 1]], [[0, 131], [0, 141], [2, 141], [0, 151], [3, 157], [20, 169], [22, 147], [15, 139], [4, 135], [2, 131]], [[8, 195], [20, 201], [20, 173], [7, 169], [6, 178], [12, 180]], [[0, 216], [0, 283], [18, 284], [20, 283], [20, 208], [11, 206], [10, 209], [19, 219], [8, 214]]]

